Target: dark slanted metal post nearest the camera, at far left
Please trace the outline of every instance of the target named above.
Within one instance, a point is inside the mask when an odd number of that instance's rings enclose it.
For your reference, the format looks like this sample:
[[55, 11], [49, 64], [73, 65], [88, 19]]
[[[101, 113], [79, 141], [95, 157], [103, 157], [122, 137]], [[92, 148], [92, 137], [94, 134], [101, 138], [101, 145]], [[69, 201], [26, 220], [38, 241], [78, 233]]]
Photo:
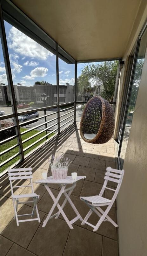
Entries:
[[12, 112], [13, 112], [13, 114], [15, 114], [14, 123], [15, 123], [15, 125], [17, 125], [15, 130], [16, 130], [16, 134], [18, 135], [17, 142], [19, 143], [19, 152], [21, 153], [20, 158], [21, 158], [21, 160], [24, 160], [23, 145], [22, 145], [22, 139], [21, 139], [21, 133], [20, 133], [20, 127], [19, 127], [19, 120], [18, 120], [18, 115], [17, 115], [17, 105], [16, 105], [16, 100], [15, 100], [15, 92], [14, 92], [14, 87], [13, 87], [10, 59], [9, 59], [9, 53], [8, 53], [8, 45], [7, 45], [5, 27], [4, 27], [4, 22], [3, 22], [3, 11], [2, 11], [1, 0], [0, 0], [0, 37], [1, 37], [1, 43], [2, 43], [2, 49], [3, 49], [3, 57], [4, 57], [6, 75], [7, 75], [7, 80], [8, 80]]

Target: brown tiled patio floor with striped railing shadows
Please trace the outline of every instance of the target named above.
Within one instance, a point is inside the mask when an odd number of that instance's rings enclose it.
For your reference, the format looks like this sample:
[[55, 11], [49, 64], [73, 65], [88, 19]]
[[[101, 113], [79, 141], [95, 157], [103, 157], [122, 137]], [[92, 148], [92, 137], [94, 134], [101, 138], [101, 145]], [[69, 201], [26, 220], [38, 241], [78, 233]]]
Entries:
[[[19, 164], [19, 167], [32, 167], [33, 181], [42, 177], [42, 172], [47, 171], [51, 175], [51, 156], [62, 155], [71, 160], [68, 175], [75, 171], [78, 175], [87, 176], [85, 180], [77, 182], [76, 188], [72, 191], [71, 200], [77, 210], [84, 218], [89, 208], [80, 201], [79, 196], [97, 195], [104, 183], [106, 167], [116, 168], [114, 156], [113, 139], [105, 144], [88, 144], [83, 142], [79, 134], [79, 123], [73, 124], [60, 135], [54, 136], [49, 142], [42, 145], [40, 149], [32, 153], [27, 159]], [[23, 181], [28, 184], [28, 181]], [[109, 183], [110, 188], [115, 187], [115, 183]], [[55, 195], [60, 189], [58, 185], [52, 184], [50, 188]], [[117, 228], [109, 222], [103, 222], [97, 232], [92, 232], [92, 228], [87, 225], [81, 226], [78, 220], [73, 224], [74, 229], [70, 230], [62, 215], [58, 219], [52, 218], [47, 225], [42, 228], [43, 219], [49, 212], [53, 201], [49, 197], [43, 185], [34, 183], [35, 193], [40, 195], [38, 200], [38, 210], [41, 223], [37, 221], [20, 223], [17, 227], [16, 220], [13, 219], [14, 211], [10, 194], [10, 184], [7, 174], [0, 180], [0, 211], [3, 218], [0, 223], [0, 255], [1, 256], [118, 256]], [[17, 193], [28, 193], [29, 189], [19, 189]], [[104, 197], [112, 197], [112, 191], [107, 190]], [[60, 198], [60, 204], [64, 197]], [[109, 215], [116, 221], [115, 204], [111, 208]], [[26, 204], [19, 209], [29, 213], [32, 204]], [[57, 211], [57, 209], [55, 209]], [[54, 212], [55, 212], [54, 211]], [[75, 217], [74, 212], [67, 203], [64, 208], [69, 219]], [[96, 224], [98, 217], [95, 214], [90, 216], [90, 222]]]

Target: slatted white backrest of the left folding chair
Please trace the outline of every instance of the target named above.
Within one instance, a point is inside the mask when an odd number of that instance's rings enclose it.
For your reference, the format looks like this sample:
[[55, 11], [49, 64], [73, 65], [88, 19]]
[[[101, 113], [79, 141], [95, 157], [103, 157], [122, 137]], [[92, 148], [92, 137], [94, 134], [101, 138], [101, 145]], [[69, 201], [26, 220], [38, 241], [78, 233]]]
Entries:
[[12, 181], [13, 180], [26, 180], [26, 179], [30, 179], [30, 186], [31, 186], [31, 190], [32, 193], [34, 193], [33, 190], [33, 183], [32, 183], [32, 168], [28, 167], [28, 168], [17, 168], [17, 169], [8, 169], [8, 176], [9, 176], [9, 180], [10, 180], [10, 187], [11, 187], [11, 193], [13, 195], [13, 188], [18, 188], [18, 187], [27, 187], [27, 185], [23, 185], [23, 186], [12, 186]]

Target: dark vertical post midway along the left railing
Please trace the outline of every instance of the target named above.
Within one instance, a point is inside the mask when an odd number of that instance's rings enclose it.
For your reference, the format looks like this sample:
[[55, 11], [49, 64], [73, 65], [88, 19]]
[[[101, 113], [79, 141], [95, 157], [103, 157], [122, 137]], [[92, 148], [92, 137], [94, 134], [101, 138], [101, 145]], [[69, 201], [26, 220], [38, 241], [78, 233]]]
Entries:
[[58, 120], [58, 134], [60, 134], [60, 100], [59, 100], [59, 58], [58, 58], [58, 44], [56, 43], [56, 76], [57, 76], [57, 120]]

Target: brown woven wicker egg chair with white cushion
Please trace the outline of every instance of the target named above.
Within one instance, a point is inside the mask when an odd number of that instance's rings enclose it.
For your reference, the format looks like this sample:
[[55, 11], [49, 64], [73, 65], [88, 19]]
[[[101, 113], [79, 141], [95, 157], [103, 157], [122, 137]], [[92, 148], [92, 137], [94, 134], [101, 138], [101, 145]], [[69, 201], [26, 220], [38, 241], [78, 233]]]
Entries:
[[80, 135], [85, 142], [108, 142], [114, 132], [114, 112], [109, 102], [101, 96], [91, 98], [82, 114]]

